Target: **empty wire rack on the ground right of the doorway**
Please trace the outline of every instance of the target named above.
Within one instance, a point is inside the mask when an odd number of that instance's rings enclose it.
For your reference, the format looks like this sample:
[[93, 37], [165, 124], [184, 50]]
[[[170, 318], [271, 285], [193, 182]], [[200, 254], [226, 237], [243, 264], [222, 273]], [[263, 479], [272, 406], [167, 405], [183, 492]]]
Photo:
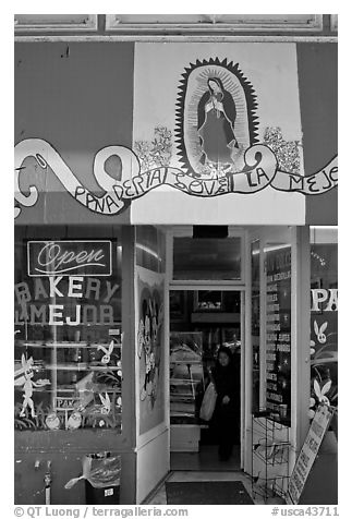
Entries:
[[267, 410], [252, 414], [252, 494], [284, 497], [289, 481], [290, 422]]

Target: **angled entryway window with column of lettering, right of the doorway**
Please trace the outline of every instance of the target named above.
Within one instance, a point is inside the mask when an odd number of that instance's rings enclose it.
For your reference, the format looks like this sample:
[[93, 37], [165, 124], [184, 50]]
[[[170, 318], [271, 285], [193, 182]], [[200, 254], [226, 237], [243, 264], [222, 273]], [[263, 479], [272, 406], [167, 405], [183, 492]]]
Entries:
[[251, 243], [252, 412], [291, 425], [292, 263], [288, 229]]

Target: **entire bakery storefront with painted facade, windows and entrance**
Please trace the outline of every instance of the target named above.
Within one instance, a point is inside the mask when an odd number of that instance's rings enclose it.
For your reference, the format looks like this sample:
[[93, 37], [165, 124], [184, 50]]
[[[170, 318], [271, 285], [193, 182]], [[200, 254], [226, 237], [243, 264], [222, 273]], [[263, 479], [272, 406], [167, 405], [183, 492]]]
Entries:
[[283, 495], [337, 408], [336, 46], [17, 41], [15, 62], [16, 504], [139, 504], [210, 452], [220, 346], [236, 468]]

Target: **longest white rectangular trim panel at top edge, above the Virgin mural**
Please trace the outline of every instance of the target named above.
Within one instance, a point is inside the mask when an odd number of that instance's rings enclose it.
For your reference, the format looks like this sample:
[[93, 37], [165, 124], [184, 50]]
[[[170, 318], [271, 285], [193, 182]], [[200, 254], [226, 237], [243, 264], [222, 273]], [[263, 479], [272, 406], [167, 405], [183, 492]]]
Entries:
[[[143, 23], [143, 22], [121, 22], [119, 20], [121, 14], [106, 14], [106, 31], [113, 31], [119, 33], [137, 33], [137, 32], [223, 32], [223, 31], [263, 31], [263, 32], [298, 32], [309, 31], [319, 32], [323, 31], [323, 14], [307, 14], [306, 21], [282, 21], [282, 20], [257, 20], [257, 19], [244, 19], [241, 20], [241, 14], [238, 22], [198, 22], [198, 23]], [[122, 14], [122, 16], [124, 16]], [[209, 15], [210, 16], [210, 15]], [[214, 15], [216, 16], [216, 15]], [[235, 15], [233, 15], [235, 16]], [[242, 15], [243, 16], [243, 15]]]

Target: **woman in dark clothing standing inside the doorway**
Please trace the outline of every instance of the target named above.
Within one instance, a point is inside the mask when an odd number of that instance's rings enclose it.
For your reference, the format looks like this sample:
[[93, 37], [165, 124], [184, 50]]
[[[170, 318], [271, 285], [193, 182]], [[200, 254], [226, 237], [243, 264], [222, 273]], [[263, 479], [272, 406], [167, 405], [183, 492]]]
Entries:
[[211, 372], [217, 390], [213, 426], [219, 442], [219, 458], [228, 460], [233, 444], [239, 442], [240, 369], [230, 348], [220, 347]]

